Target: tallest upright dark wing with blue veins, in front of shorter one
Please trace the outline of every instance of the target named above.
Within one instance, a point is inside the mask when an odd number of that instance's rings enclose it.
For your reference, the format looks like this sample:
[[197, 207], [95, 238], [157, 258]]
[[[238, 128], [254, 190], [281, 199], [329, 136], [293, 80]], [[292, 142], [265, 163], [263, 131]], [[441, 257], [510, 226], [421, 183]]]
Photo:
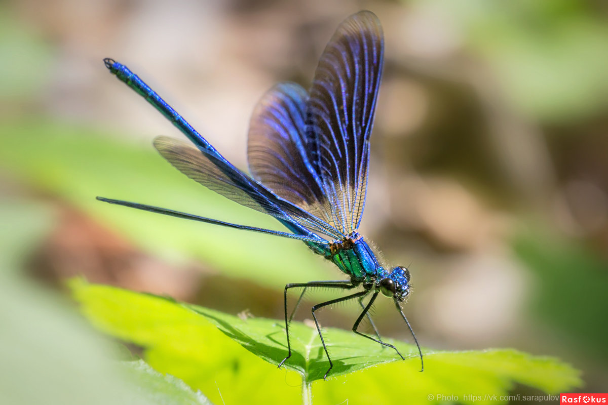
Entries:
[[321, 56], [308, 101], [305, 149], [329, 200], [328, 222], [343, 234], [358, 228], [365, 205], [383, 53], [378, 18], [350, 16]]

